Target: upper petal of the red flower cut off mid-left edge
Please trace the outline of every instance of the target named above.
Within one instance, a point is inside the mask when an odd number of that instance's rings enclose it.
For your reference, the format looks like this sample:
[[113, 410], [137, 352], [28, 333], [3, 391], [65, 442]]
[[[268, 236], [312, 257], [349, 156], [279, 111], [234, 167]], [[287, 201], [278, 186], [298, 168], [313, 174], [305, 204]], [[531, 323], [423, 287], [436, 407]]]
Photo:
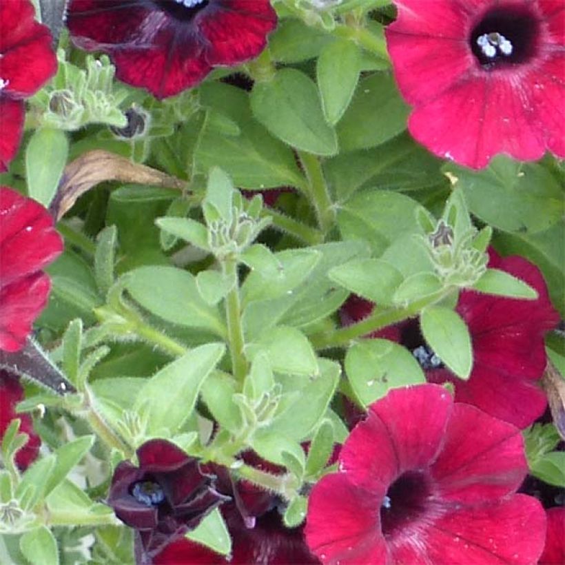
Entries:
[[0, 187], [0, 287], [39, 271], [63, 250], [49, 212], [8, 187]]

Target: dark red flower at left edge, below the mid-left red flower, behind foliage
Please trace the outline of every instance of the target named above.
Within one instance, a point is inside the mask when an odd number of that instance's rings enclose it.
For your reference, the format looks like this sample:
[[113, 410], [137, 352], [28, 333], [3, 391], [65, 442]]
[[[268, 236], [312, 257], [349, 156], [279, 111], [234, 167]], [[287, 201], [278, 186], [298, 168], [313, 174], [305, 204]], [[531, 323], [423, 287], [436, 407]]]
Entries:
[[23, 387], [17, 377], [6, 371], [0, 371], [0, 438], [12, 420], [19, 418], [19, 431], [27, 433], [28, 442], [16, 453], [16, 464], [23, 471], [37, 459], [41, 440], [34, 432], [32, 419], [28, 414], [17, 414], [16, 404], [23, 400]]

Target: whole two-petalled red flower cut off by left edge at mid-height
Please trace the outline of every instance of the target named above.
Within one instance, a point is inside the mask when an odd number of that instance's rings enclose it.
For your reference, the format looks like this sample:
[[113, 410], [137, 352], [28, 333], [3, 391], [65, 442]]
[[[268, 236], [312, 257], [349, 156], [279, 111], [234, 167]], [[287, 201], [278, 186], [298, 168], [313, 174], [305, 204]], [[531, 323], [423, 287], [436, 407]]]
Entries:
[[45, 307], [51, 283], [41, 269], [63, 240], [41, 204], [0, 187], [0, 349], [19, 351]]

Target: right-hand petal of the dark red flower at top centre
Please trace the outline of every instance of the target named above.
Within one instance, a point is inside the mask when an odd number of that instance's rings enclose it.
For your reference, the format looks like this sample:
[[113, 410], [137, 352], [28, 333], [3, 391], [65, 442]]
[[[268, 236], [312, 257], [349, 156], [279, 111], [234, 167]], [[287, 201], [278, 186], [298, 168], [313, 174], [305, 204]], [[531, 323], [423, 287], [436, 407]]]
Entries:
[[276, 13], [268, 0], [223, 0], [223, 8], [201, 12], [198, 27], [209, 42], [210, 65], [236, 65], [257, 56], [274, 30]]

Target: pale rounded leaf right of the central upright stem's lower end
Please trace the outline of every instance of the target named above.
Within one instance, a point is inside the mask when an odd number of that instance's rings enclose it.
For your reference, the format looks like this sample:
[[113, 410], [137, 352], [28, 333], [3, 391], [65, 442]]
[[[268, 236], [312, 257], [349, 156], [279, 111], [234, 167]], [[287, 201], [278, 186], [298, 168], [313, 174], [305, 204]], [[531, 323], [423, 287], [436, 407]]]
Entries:
[[298, 329], [279, 326], [247, 345], [245, 354], [252, 361], [264, 351], [274, 371], [290, 375], [317, 375], [314, 349]]

